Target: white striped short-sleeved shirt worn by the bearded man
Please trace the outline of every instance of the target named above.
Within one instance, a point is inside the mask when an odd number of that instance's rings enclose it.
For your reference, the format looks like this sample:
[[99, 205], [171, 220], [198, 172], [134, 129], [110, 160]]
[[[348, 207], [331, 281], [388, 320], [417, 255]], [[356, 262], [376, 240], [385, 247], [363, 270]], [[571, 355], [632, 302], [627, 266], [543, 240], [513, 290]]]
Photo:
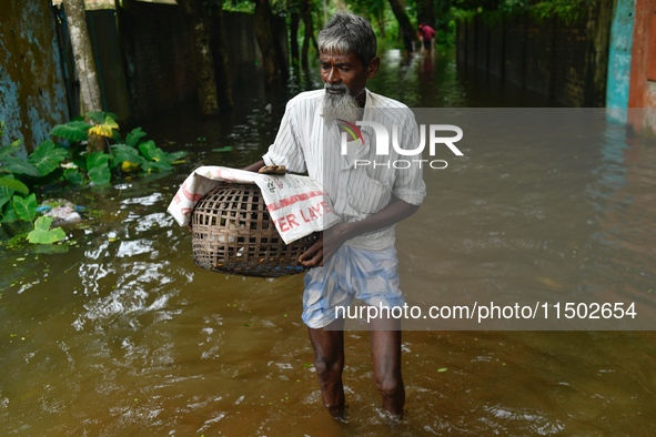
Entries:
[[[341, 154], [341, 133], [335, 122], [321, 115], [325, 90], [303, 92], [287, 102], [275, 141], [263, 156], [266, 165], [285, 165], [292, 173], [305, 173], [317, 181], [332, 201], [334, 212], [343, 222], [360, 221], [385, 207], [394, 195], [410, 204], [422, 203], [426, 187], [420, 165], [394, 169], [402, 156], [392, 145], [388, 155], [376, 155], [376, 135], [371, 126], [360, 126], [364, 145], [353, 156], [363, 163], [354, 166], [349, 155]], [[364, 121], [374, 121], [387, 129], [398, 125], [398, 143], [413, 150], [418, 144], [414, 114], [401, 102], [366, 90]], [[360, 140], [359, 140], [360, 142]], [[391, 142], [391, 141], [390, 141]], [[390, 166], [387, 166], [390, 165]], [[404, 165], [403, 165], [404, 166]], [[394, 226], [360, 235], [347, 242], [364, 248], [383, 248], [394, 244]]]

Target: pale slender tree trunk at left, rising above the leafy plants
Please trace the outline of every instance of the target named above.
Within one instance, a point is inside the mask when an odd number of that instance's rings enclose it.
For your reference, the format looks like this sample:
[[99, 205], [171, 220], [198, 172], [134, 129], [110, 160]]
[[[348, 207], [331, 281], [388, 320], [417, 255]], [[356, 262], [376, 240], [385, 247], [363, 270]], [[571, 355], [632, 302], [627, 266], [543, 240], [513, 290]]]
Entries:
[[63, 0], [69, 26], [75, 71], [80, 81], [80, 113], [102, 110], [98, 70], [91, 48], [91, 39], [87, 31], [87, 12], [84, 0]]

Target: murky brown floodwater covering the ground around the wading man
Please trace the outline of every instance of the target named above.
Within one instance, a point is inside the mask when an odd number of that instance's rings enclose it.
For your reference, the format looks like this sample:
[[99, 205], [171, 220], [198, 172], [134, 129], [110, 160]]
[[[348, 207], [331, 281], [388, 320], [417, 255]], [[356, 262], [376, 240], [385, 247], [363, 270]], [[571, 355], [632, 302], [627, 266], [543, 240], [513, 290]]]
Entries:
[[[545, 104], [458, 74], [444, 54], [404, 60], [392, 51], [384, 65], [372, 90], [411, 106]], [[397, 425], [379, 409], [369, 334], [349, 331], [349, 420], [330, 418], [300, 319], [302, 275], [264, 280], [195, 267], [190, 233], [165, 213], [195, 166], [258, 159], [285, 99], [304, 87], [249, 89], [222, 121], [182, 109], [144, 122], [160, 144], [189, 150], [189, 163], [72, 193], [98, 213], [68, 230], [77, 244], [65, 254], [0, 252], [2, 435], [656, 434], [656, 335], [645, 327], [406, 331], [407, 416]], [[234, 151], [214, 151], [225, 145]], [[447, 169], [425, 172], [428, 196], [398, 226], [408, 299], [588, 293], [635, 301], [638, 316], [648, 313], [656, 277], [653, 145], [609, 123], [564, 144], [490, 136], [464, 152]]]

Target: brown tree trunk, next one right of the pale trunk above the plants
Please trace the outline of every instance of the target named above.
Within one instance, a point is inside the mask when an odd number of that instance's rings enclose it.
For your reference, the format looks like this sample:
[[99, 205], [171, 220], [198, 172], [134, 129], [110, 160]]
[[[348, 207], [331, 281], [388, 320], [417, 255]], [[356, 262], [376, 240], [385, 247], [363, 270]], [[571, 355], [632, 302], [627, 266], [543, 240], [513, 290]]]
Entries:
[[203, 0], [176, 0], [192, 38], [192, 58], [196, 92], [204, 115], [219, 113], [219, 96], [214, 58], [212, 55], [212, 22], [204, 11]]

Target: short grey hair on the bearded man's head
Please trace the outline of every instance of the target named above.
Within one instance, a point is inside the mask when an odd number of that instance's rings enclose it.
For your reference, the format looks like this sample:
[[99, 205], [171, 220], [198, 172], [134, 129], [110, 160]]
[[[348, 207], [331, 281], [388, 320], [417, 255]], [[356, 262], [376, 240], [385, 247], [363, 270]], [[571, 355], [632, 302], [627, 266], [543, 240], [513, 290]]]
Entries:
[[364, 67], [376, 57], [376, 34], [369, 21], [354, 13], [333, 16], [316, 38], [320, 53], [355, 53]]

